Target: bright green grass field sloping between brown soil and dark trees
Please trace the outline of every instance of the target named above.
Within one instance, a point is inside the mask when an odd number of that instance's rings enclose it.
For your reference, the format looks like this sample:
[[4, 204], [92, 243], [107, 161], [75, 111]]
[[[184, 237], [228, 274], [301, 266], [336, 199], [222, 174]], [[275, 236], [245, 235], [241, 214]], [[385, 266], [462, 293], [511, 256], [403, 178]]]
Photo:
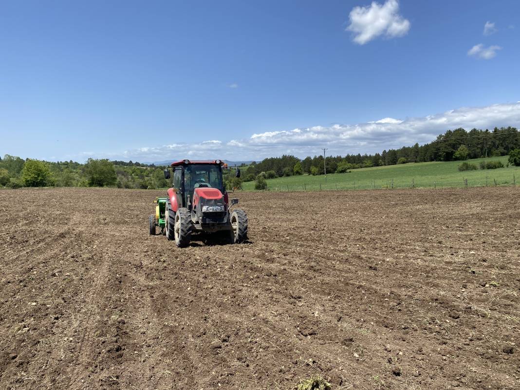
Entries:
[[[444, 188], [513, 185], [520, 181], [520, 167], [509, 166], [508, 157], [490, 157], [487, 159], [467, 160], [478, 167], [480, 161], [501, 161], [504, 168], [459, 172], [460, 161], [408, 163], [400, 165], [377, 166], [352, 170], [350, 173], [334, 173], [327, 175], [327, 182], [320, 176], [290, 176], [267, 180], [271, 191], [303, 191], [319, 190], [353, 190], [371, 188]], [[245, 191], [254, 190], [254, 181], [242, 185]]]

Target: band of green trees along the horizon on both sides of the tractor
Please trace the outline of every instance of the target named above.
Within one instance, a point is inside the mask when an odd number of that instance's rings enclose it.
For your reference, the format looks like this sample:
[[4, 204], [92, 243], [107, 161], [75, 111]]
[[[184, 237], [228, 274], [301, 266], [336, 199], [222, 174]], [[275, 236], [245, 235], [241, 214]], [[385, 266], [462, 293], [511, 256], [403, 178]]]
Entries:
[[[514, 127], [495, 128], [493, 131], [463, 128], [448, 130], [424, 145], [415, 144], [400, 149], [383, 150], [374, 154], [346, 154], [326, 158], [315, 155], [301, 160], [292, 155], [271, 157], [252, 162], [236, 178], [233, 170], [225, 171], [228, 188], [240, 187], [242, 181], [262, 176], [275, 178], [292, 175], [322, 175], [324, 165], [329, 173], [343, 173], [357, 168], [427, 161], [467, 160], [481, 157], [509, 155], [520, 149], [520, 132]], [[164, 166], [139, 162], [89, 159], [85, 164], [74, 161], [40, 161], [22, 159], [6, 154], [0, 159], [0, 186], [20, 187], [89, 187], [167, 188]]]

